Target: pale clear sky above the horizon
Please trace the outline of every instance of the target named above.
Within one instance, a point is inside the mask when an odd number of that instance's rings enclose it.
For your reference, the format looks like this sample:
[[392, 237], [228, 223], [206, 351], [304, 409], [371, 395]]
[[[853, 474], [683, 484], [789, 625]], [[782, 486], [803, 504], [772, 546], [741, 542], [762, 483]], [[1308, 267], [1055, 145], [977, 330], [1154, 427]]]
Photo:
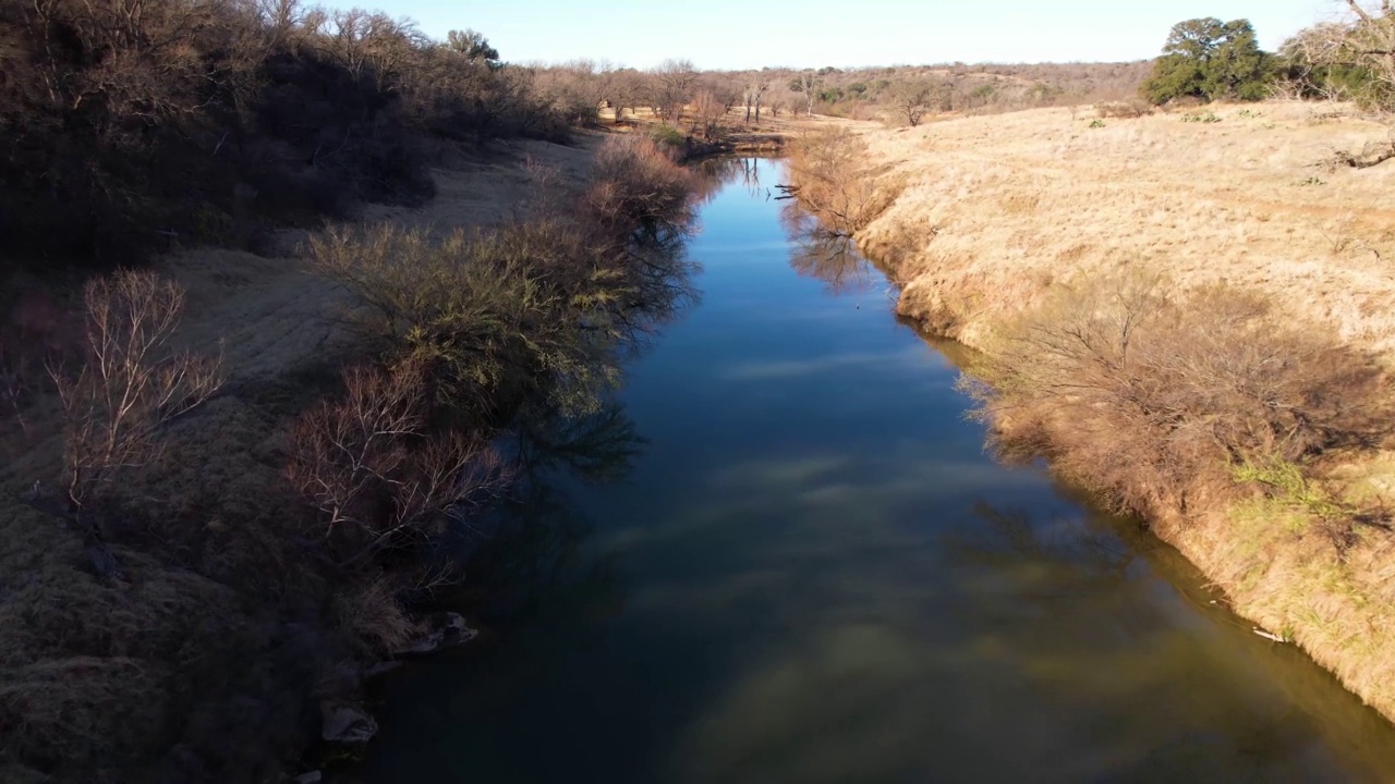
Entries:
[[1265, 49], [1339, 0], [329, 0], [483, 32], [509, 61], [578, 57], [647, 68], [1140, 60], [1175, 22], [1249, 18]]

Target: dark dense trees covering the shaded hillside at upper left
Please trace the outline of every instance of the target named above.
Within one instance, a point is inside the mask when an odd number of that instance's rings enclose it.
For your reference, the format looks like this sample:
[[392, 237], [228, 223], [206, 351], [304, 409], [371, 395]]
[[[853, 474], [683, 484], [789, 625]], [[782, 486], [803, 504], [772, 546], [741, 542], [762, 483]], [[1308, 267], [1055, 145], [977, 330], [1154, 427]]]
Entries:
[[565, 138], [480, 35], [299, 0], [0, 7], [0, 232], [17, 257], [114, 264], [258, 219], [431, 194], [428, 138]]

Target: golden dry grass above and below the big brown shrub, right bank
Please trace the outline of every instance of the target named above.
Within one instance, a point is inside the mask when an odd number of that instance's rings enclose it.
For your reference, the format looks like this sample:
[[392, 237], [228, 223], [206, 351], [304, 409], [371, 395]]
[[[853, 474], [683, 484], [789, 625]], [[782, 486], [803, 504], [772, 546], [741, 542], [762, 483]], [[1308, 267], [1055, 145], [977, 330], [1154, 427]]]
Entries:
[[[859, 126], [907, 184], [858, 240], [903, 286], [900, 311], [990, 349], [1056, 283], [1129, 268], [1186, 290], [1257, 293], [1286, 322], [1395, 365], [1395, 163], [1332, 169], [1388, 141], [1349, 107], [1211, 106], [1138, 119], [1041, 109], [918, 128]], [[1314, 476], [1367, 509], [1395, 504], [1395, 456], [1327, 456]], [[1334, 548], [1292, 506], [1158, 511], [1155, 530], [1258, 626], [1296, 642], [1395, 718], [1395, 534]], [[1176, 519], [1169, 519], [1176, 518]]]

